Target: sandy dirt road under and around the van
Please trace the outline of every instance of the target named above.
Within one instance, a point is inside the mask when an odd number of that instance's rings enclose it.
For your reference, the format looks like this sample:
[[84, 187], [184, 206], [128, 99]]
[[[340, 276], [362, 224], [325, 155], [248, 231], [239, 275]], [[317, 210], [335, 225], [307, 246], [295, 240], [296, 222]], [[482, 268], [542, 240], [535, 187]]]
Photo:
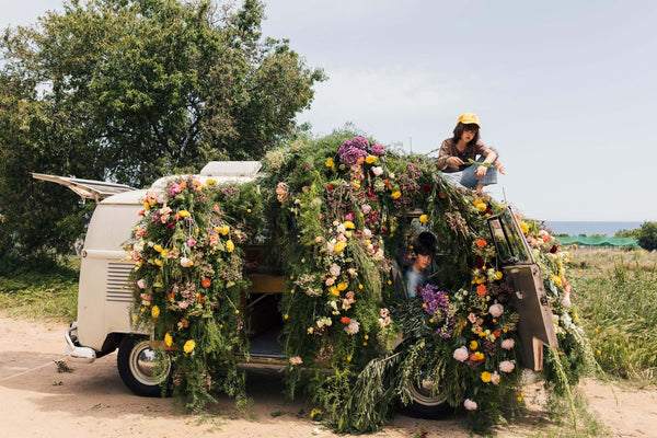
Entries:
[[[57, 372], [64, 359], [62, 324], [0, 318], [0, 437], [337, 437], [310, 420], [312, 406], [303, 400], [286, 402], [280, 379], [270, 373], [249, 376], [254, 405], [247, 417], [230, 399], [216, 415], [189, 415], [171, 399], [132, 395], [116, 370], [116, 354], [93, 364], [69, 364], [74, 371]], [[657, 437], [657, 391], [615, 389], [588, 380], [585, 393], [613, 437]], [[545, 431], [544, 413], [534, 400], [539, 388], [528, 388], [531, 413], [497, 429], [500, 438], [537, 437]], [[300, 414], [303, 411], [304, 413]], [[462, 418], [416, 419], [395, 415], [372, 437], [469, 437]]]

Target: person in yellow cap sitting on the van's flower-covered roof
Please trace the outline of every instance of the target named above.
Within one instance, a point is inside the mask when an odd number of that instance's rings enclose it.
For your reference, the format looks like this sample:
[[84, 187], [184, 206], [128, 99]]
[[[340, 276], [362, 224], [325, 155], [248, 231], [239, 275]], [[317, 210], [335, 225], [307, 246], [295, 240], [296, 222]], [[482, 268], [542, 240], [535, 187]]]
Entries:
[[[480, 140], [480, 120], [475, 114], [459, 117], [453, 137], [445, 139], [438, 152], [438, 170], [448, 173], [448, 181], [468, 188], [482, 189], [497, 183], [497, 170], [504, 168], [497, 160], [497, 151]], [[473, 164], [470, 160], [491, 166]]]

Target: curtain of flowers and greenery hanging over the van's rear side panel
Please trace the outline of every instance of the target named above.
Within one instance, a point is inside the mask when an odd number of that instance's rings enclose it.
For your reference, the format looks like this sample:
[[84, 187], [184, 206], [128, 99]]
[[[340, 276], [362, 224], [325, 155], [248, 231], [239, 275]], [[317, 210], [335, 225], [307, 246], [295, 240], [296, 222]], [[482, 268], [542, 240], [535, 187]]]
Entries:
[[235, 355], [249, 349], [240, 311], [249, 286], [241, 244], [256, 227], [243, 214], [249, 188], [188, 178], [151, 189], [126, 245], [135, 323], [152, 326], [169, 353], [160, 356], [173, 361], [173, 393], [195, 410], [217, 390], [245, 400]]

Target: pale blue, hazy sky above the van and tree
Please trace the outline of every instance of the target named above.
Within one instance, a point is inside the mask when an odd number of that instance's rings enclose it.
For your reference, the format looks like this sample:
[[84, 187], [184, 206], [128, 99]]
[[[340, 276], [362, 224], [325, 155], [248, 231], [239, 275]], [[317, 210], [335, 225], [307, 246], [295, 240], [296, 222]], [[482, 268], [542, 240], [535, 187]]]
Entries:
[[[0, 27], [61, 0], [0, 0]], [[657, 3], [272, 0], [266, 36], [289, 38], [328, 80], [299, 116], [354, 123], [428, 153], [461, 113], [482, 122], [507, 174], [489, 192], [544, 220], [657, 220]]]

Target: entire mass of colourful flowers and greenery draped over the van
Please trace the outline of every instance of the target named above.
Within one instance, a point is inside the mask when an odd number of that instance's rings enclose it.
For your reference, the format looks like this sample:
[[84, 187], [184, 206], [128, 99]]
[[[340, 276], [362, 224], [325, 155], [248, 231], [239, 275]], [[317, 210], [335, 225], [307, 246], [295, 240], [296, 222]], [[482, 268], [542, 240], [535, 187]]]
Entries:
[[[418, 391], [468, 412], [475, 430], [522, 408], [516, 291], [486, 224], [504, 206], [449, 185], [430, 159], [361, 136], [300, 141], [264, 165], [244, 186], [176, 181], [145, 199], [128, 247], [135, 316], [169, 351], [174, 393], [193, 407], [217, 391], [245, 400], [235, 367], [237, 354], [247, 357], [244, 246], [266, 223], [285, 278], [288, 393], [304, 387], [335, 430], [376, 430]], [[588, 344], [566, 306], [564, 256], [529, 228], [568, 339], [545, 376], [564, 388], [586, 369]], [[437, 238], [438, 273], [406, 299], [395, 273], [420, 231]]]

